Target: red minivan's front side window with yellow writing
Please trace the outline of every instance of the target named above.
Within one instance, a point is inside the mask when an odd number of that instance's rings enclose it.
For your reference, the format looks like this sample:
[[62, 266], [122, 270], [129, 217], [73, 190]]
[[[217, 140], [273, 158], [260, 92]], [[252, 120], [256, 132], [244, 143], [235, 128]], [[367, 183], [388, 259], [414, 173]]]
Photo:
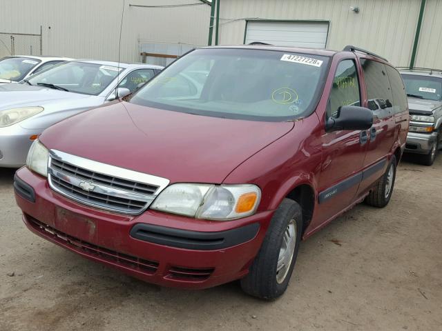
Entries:
[[337, 117], [341, 106], [360, 106], [358, 72], [353, 60], [343, 60], [336, 69], [327, 106], [327, 117]]

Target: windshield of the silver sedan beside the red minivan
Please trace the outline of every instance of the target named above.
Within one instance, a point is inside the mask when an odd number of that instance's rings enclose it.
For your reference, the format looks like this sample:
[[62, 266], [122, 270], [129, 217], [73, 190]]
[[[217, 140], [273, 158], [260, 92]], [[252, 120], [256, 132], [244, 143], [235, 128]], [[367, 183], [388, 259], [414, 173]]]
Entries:
[[98, 95], [111, 84], [121, 70], [123, 69], [114, 66], [72, 61], [35, 74], [28, 83], [37, 86], [52, 85], [69, 92]]

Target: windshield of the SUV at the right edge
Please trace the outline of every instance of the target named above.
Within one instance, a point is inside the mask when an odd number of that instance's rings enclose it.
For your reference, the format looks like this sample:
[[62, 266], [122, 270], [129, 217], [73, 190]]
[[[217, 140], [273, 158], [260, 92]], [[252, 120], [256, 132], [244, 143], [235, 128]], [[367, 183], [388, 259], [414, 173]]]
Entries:
[[442, 77], [402, 74], [407, 94], [428, 100], [442, 100]]

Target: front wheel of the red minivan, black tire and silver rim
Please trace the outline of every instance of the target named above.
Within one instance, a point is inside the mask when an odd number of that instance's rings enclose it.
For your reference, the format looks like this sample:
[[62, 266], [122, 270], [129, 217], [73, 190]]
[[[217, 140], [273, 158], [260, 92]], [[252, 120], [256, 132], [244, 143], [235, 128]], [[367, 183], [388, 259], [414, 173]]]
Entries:
[[[293, 244], [294, 250], [291, 259], [286, 260], [287, 263], [290, 261], [289, 267], [285, 269], [282, 275], [277, 272], [278, 258], [280, 257], [282, 241], [289, 228], [293, 230], [292, 238], [296, 238], [296, 242]], [[289, 285], [298, 255], [301, 234], [302, 214], [300, 205], [291, 199], [284, 199], [271, 218], [269, 229], [260, 251], [249, 269], [249, 274], [241, 280], [242, 290], [260, 299], [273, 300], [280, 297]], [[283, 279], [281, 279], [282, 276]], [[277, 277], [280, 277], [280, 281], [277, 280]]]

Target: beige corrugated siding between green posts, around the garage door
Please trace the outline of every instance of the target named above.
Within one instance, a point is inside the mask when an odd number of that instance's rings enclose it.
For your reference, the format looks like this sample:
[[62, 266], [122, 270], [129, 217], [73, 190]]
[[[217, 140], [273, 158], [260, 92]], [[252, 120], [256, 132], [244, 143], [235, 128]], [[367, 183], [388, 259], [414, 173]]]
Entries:
[[[432, 2], [439, 2], [440, 10], [441, 1], [428, 0], [427, 6], [436, 7]], [[353, 44], [407, 66], [420, 5], [421, 0], [221, 0], [220, 43], [242, 44], [246, 19], [325, 20], [330, 21], [327, 48]], [[351, 12], [350, 6], [360, 12]]]

